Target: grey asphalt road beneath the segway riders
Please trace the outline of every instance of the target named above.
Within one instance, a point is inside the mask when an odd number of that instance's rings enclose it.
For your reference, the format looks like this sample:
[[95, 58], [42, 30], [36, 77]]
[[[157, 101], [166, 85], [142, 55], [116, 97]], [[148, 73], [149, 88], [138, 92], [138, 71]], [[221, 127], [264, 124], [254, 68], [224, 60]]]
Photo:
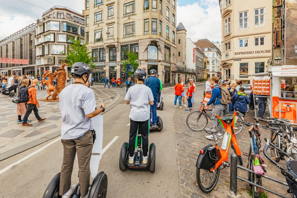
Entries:
[[[123, 142], [129, 140], [129, 126], [127, 126], [130, 122], [129, 105], [120, 103], [104, 114], [103, 148], [115, 136], [118, 136], [118, 139], [103, 154], [98, 169], [98, 172], [104, 171], [108, 176], [107, 197], [180, 197], [173, 128], [173, 100], [164, 99], [164, 103], [164, 110], [157, 111], [163, 120], [163, 131], [152, 132], [149, 135], [149, 144], [156, 145], [155, 173], [138, 170], [122, 172], [119, 170], [119, 152]], [[0, 170], [54, 140], [0, 161]], [[61, 169], [62, 155], [63, 148], [59, 140], [6, 172], [0, 173], [0, 197], [42, 197], [49, 181]], [[78, 183], [77, 175], [78, 165], [75, 161], [72, 173], [73, 183]]]

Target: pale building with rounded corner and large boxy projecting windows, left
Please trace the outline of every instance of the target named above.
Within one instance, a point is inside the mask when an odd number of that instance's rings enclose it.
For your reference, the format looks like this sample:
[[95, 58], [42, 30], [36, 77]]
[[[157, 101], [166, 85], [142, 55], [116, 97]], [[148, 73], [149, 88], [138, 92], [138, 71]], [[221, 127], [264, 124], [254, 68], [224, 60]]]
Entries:
[[[36, 27], [36, 67], [37, 74], [43, 75], [45, 70], [54, 72], [66, 61], [70, 37], [84, 43], [84, 16], [65, 6], [54, 6], [37, 19]], [[67, 76], [71, 76], [71, 68], [65, 68]]]

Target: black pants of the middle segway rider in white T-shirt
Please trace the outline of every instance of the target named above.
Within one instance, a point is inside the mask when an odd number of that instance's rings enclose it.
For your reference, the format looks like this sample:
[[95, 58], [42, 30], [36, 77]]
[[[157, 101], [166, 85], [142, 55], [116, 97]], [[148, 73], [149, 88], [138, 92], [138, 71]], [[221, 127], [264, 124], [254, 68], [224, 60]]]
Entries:
[[130, 156], [132, 157], [134, 155], [135, 151], [135, 140], [136, 140], [136, 134], [141, 133], [142, 137], [142, 152], [143, 156], [147, 156], [149, 152], [149, 120], [146, 121], [134, 121], [130, 119], [130, 137], [129, 137], [129, 147], [128, 151], [130, 153]]

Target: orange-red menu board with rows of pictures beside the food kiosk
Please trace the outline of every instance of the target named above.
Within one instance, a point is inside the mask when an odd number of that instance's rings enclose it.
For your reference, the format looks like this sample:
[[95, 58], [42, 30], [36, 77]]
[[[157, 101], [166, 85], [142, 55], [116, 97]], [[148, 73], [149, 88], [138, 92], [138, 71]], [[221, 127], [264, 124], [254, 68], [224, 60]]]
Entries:
[[253, 92], [256, 95], [270, 96], [270, 77], [255, 77], [253, 79]]

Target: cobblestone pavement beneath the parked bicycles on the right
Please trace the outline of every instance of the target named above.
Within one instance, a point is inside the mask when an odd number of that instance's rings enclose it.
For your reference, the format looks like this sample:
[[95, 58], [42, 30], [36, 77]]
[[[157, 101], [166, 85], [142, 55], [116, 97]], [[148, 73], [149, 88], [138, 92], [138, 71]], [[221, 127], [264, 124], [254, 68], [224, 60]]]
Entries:
[[[197, 92], [195, 94], [195, 101], [200, 103], [203, 99], [203, 91], [204, 86], [198, 86]], [[174, 99], [174, 89], [166, 89], [163, 91], [163, 97], [168, 99]], [[187, 104], [187, 101], [186, 101]], [[193, 109], [199, 110], [200, 105], [194, 105]], [[172, 108], [174, 108], [174, 104], [172, 104]], [[176, 141], [176, 149], [178, 151], [178, 169], [179, 169], [179, 182], [180, 182], [180, 192], [181, 197], [191, 197], [191, 198], [200, 198], [200, 197], [209, 197], [209, 198], [227, 198], [232, 197], [230, 194], [230, 168], [226, 167], [225, 169], [220, 171], [219, 180], [217, 182], [214, 190], [209, 193], [203, 193], [200, 191], [197, 182], [196, 182], [196, 161], [199, 155], [200, 149], [202, 149], [207, 144], [213, 144], [214, 142], [211, 140], [207, 140], [205, 135], [208, 135], [204, 131], [196, 132], [192, 131], [187, 127], [187, 115], [189, 112], [184, 111], [186, 107], [179, 109], [175, 109], [174, 116], [174, 132], [175, 132], [175, 141]], [[250, 122], [254, 122], [254, 112], [249, 111], [246, 114], [246, 120]], [[211, 125], [208, 124], [207, 127]], [[261, 131], [261, 149], [264, 149], [265, 142], [264, 138], [270, 137], [270, 131], [260, 129]], [[236, 136], [239, 147], [242, 153], [249, 152], [250, 140], [248, 136], [248, 127], [244, 127], [243, 131]], [[222, 144], [222, 139], [218, 139], [219, 146]], [[229, 150], [229, 162], [230, 155], [233, 153], [232, 149]], [[268, 165], [267, 167], [267, 175], [272, 176], [274, 178], [285, 181], [284, 176], [280, 173], [280, 170], [274, 166], [268, 159], [265, 158], [264, 154], [260, 154], [261, 157], [264, 157], [265, 163]], [[247, 156], [242, 155], [243, 166], [247, 166]], [[282, 166], [284, 165], [284, 161], [280, 161]], [[247, 172], [243, 170], [238, 170], [238, 175], [247, 179]], [[238, 190], [237, 197], [251, 197], [248, 194], [249, 185], [243, 183], [238, 180]], [[287, 196], [290, 196], [286, 193], [286, 187], [262, 178], [262, 185], [273, 189], [274, 191], [280, 192]], [[268, 197], [278, 197], [271, 193], [265, 192]]]

